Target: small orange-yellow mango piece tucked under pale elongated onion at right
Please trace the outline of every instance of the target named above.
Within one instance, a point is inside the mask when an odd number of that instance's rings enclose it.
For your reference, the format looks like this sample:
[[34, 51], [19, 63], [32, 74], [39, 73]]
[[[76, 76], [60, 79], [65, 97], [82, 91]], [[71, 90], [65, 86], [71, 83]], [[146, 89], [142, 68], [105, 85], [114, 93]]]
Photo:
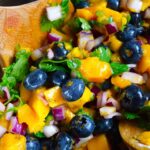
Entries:
[[127, 86], [131, 85], [131, 82], [129, 80], [123, 79], [120, 76], [112, 77], [111, 83], [121, 89], [126, 88]]

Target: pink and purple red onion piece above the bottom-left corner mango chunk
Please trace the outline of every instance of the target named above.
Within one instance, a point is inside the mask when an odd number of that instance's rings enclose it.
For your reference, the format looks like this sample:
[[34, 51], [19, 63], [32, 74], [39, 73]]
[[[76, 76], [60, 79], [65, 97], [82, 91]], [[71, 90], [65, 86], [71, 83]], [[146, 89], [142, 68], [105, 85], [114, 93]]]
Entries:
[[26, 134], [27, 125], [25, 123], [19, 124], [17, 117], [11, 117], [10, 120], [11, 132], [21, 135]]

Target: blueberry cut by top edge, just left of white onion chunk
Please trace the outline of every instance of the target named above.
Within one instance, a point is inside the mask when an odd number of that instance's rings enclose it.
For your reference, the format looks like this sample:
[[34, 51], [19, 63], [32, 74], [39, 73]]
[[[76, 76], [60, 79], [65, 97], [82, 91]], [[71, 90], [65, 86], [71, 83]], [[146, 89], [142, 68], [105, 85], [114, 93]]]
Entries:
[[120, 0], [107, 0], [107, 7], [113, 10], [118, 10], [120, 5]]

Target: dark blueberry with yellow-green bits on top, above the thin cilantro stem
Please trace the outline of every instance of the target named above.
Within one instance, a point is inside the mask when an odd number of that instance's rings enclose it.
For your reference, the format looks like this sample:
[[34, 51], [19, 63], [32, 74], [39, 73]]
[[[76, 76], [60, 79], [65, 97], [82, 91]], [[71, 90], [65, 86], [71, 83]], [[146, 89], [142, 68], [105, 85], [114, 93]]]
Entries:
[[54, 59], [55, 60], [63, 60], [66, 58], [68, 54], [68, 50], [66, 50], [65, 45], [63, 42], [55, 43], [52, 47], [54, 52]]

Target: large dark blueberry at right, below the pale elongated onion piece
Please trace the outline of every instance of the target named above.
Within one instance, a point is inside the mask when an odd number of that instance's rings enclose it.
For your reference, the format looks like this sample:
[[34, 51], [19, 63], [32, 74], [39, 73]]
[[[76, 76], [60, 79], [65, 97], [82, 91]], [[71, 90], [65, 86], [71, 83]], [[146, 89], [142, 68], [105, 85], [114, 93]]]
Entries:
[[121, 106], [127, 111], [137, 111], [146, 101], [143, 91], [136, 85], [127, 87], [123, 92]]

